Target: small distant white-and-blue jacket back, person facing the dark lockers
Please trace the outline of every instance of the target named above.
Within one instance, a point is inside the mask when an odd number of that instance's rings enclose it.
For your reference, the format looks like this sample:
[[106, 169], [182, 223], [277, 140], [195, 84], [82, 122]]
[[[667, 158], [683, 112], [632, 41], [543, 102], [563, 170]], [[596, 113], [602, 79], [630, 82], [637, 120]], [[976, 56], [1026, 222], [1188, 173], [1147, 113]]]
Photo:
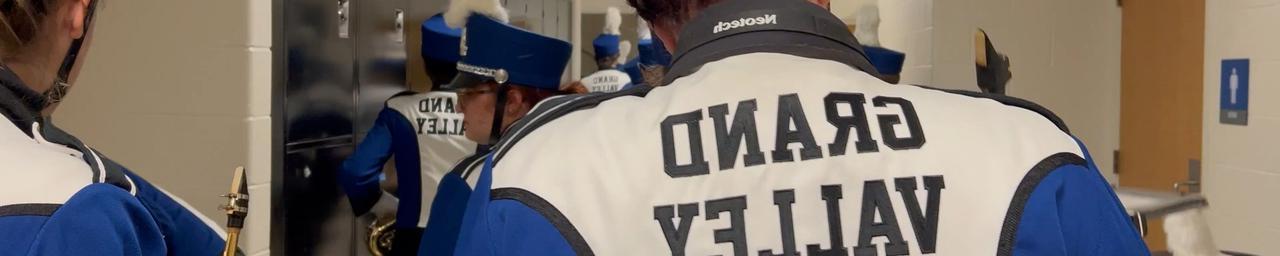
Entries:
[[383, 166], [396, 159], [397, 228], [424, 228], [436, 186], [476, 148], [463, 137], [457, 93], [403, 92], [387, 100], [372, 128], [344, 163], [340, 183], [356, 214], [380, 204]]

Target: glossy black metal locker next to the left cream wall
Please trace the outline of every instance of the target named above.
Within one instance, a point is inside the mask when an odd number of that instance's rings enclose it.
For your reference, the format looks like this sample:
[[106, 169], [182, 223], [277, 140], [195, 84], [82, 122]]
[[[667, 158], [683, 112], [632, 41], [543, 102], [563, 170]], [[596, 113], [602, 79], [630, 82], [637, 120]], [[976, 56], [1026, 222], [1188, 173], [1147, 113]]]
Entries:
[[283, 136], [274, 140], [283, 140], [284, 154], [273, 175], [278, 188], [273, 204], [280, 207], [273, 207], [271, 252], [351, 255], [355, 216], [337, 186], [337, 172], [353, 141], [352, 41], [339, 35], [338, 1], [282, 1], [273, 50], [284, 58], [276, 61], [284, 64], [278, 69], [283, 73], [275, 74], [283, 95], [274, 96], [274, 104], [283, 105], [283, 118], [276, 116]]

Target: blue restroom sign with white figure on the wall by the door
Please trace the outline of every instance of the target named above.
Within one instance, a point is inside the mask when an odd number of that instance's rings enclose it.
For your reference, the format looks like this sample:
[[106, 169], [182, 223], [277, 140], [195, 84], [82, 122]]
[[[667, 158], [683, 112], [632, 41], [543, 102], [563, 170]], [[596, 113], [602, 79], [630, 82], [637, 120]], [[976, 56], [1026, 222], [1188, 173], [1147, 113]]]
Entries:
[[1219, 123], [1249, 124], [1249, 59], [1222, 60]]

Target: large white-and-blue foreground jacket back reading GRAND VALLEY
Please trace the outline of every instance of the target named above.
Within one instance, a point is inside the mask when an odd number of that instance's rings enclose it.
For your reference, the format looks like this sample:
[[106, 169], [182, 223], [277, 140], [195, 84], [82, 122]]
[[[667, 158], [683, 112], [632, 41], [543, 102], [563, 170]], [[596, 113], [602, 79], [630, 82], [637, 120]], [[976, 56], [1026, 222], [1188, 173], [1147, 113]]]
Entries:
[[549, 101], [506, 133], [454, 253], [1147, 253], [1052, 113], [888, 84], [854, 44], [786, 27], [827, 17], [733, 14], [681, 40], [750, 44], [701, 45], [666, 87]]

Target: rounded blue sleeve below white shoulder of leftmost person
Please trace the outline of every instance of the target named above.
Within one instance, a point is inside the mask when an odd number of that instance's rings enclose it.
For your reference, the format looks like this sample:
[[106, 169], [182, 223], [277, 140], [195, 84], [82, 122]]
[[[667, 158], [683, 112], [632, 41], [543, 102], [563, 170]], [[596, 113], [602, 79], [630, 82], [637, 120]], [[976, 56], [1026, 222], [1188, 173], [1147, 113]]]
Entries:
[[[33, 233], [29, 250], [14, 255], [166, 255], [160, 227], [148, 210], [128, 192], [110, 184], [92, 184], [76, 193], [47, 219], [44, 216], [3, 218], [10, 221], [42, 223]], [[19, 225], [20, 227], [20, 225]], [[8, 228], [6, 228], [8, 229]], [[0, 237], [19, 234], [3, 232]], [[0, 243], [10, 243], [4, 239]], [[8, 246], [0, 246], [8, 247]], [[219, 248], [220, 250], [220, 248]], [[26, 252], [26, 253], [23, 253]], [[174, 252], [173, 255], [183, 255]]]

